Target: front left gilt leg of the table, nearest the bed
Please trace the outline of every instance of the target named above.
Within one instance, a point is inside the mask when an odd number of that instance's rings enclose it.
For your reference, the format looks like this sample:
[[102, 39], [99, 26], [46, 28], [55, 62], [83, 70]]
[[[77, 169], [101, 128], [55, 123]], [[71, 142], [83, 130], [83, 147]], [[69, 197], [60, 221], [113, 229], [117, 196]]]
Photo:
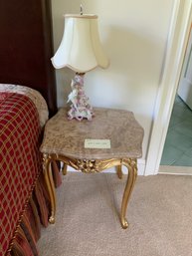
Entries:
[[51, 215], [49, 217], [49, 222], [53, 224], [55, 223], [56, 215], [56, 192], [52, 175], [51, 158], [47, 153], [43, 154], [43, 171], [51, 201]]

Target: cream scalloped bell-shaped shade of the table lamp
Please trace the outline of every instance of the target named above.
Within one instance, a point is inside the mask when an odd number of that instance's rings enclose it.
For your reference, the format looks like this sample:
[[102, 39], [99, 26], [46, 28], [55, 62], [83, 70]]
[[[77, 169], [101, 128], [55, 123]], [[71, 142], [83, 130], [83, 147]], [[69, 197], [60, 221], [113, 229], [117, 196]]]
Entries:
[[86, 73], [97, 66], [107, 68], [108, 60], [102, 50], [96, 15], [65, 15], [62, 42], [51, 59], [56, 69], [68, 67]]

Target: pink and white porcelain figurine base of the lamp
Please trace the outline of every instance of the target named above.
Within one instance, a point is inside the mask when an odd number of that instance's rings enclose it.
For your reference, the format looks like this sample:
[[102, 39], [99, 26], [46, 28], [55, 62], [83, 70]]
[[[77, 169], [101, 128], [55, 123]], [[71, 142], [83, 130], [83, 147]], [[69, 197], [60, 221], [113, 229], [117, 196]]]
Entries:
[[91, 121], [94, 116], [93, 108], [89, 104], [89, 98], [84, 91], [84, 75], [85, 73], [76, 73], [75, 79], [72, 80], [72, 93], [68, 97], [68, 103], [72, 102], [71, 109], [68, 112], [69, 120], [82, 121], [87, 119]]

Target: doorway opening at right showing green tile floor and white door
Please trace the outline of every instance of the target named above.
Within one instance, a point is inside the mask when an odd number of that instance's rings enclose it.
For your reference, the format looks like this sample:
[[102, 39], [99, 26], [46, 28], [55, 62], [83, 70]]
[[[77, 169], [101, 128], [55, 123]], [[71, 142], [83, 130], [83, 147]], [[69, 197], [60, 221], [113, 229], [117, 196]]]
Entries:
[[162, 172], [192, 175], [192, 28], [160, 161]]

